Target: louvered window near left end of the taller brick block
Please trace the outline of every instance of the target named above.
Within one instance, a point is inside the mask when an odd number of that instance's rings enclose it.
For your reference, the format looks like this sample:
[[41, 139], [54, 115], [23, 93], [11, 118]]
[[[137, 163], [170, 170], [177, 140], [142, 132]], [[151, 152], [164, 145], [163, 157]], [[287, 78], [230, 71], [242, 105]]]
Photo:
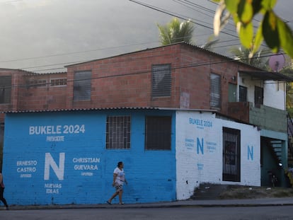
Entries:
[[74, 100], [91, 100], [91, 71], [74, 73]]

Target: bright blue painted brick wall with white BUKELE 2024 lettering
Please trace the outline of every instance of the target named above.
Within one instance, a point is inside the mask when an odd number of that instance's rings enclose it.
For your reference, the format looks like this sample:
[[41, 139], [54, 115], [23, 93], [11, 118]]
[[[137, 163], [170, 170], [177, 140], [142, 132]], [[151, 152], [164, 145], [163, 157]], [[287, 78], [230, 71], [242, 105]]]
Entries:
[[[105, 149], [107, 115], [131, 116], [130, 149]], [[144, 150], [146, 115], [172, 116], [171, 151]], [[104, 203], [113, 195], [113, 170], [118, 161], [125, 163], [129, 182], [124, 202], [175, 200], [175, 112], [100, 110], [6, 115], [3, 173], [9, 204]]]

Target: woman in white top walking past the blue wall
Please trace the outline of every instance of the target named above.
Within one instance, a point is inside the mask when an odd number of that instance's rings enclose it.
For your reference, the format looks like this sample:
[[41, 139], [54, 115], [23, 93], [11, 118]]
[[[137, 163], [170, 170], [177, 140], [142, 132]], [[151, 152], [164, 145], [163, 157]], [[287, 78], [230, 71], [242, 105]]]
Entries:
[[123, 162], [118, 162], [117, 168], [115, 168], [113, 173], [113, 187], [115, 186], [116, 192], [110, 197], [107, 201], [108, 204], [112, 204], [112, 199], [114, 199], [117, 195], [119, 195], [119, 204], [124, 204], [122, 202], [122, 193], [123, 193], [123, 184], [127, 184], [127, 180], [125, 179], [125, 172], [123, 170], [124, 164]]

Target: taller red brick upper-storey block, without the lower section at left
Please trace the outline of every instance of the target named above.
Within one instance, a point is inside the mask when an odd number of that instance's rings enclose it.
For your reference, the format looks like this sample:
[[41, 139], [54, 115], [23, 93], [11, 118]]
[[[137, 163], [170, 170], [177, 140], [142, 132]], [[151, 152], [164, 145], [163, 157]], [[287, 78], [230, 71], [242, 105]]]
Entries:
[[[151, 98], [151, 65], [171, 64], [171, 97]], [[240, 67], [239, 67], [240, 66]], [[247, 66], [185, 44], [157, 47], [67, 66], [67, 108], [161, 107], [209, 109], [209, 74], [219, 74], [222, 108], [228, 114], [228, 84]], [[91, 100], [73, 101], [75, 71], [91, 71]], [[71, 82], [71, 83], [70, 83]], [[185, 106], [182, 106], [182, 100]]]

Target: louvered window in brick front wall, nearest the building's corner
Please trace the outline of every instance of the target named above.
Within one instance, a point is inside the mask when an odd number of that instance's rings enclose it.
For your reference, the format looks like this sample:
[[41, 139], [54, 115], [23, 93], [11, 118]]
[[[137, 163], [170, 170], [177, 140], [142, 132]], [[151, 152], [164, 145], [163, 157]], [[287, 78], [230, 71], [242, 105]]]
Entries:
[[151, 69], [151, 97], [171, 96], [171, 65], [153, 65]]

